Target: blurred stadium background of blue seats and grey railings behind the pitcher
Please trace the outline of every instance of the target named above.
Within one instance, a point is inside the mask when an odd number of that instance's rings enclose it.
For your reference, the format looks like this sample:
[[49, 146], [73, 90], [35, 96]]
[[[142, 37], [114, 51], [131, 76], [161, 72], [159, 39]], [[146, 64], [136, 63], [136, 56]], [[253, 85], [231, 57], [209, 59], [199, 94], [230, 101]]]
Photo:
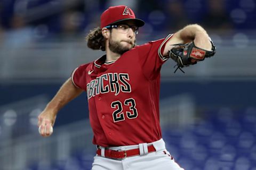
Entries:
[[185, 169], [256, 169], [255, 0], [1, 0], [0, 169], [91, 169], [95, 146], [86, 94], [63, 108], [51, 138], [37, 116], [80, 64], [102, 53], [86, 33], [110, 5], [146, 21], [138, 44], [189, 23], [209, 32], [215, 57], [173, 73], [162, 69], [161, 124], [167, 149]]

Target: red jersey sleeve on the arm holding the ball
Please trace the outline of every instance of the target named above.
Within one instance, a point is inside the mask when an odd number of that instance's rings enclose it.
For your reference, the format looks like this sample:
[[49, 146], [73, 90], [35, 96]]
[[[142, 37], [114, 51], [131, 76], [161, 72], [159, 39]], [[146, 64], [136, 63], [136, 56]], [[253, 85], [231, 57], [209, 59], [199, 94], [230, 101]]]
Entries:
[[77, 67], [71, 74], [71, 80], [75, 87], [86, 91], [86, 68], [89, 64], [83, 64]]

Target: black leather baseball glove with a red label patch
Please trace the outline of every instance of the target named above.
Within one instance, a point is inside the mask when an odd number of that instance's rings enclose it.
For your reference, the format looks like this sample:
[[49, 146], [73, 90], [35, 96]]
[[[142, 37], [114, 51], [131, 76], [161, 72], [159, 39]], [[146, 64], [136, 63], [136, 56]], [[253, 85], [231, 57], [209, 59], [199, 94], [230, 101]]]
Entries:
[[[211, 51], [196, 47], [194, 41], [187, 44], [175, 44], [174, 47], [168, 52], [168, 56], [177, 63], [177, 65], [174, 67], [178, 66], [174, 73], [178, 69], [181, 70], [182, 67], [196, 64], [196, 61], [203, 61], [204, 58], [213, 56], [216, 53], [216, 47], [212, 41], [211, 44]], [[183, 70], [181, 71], [185, 73]]]

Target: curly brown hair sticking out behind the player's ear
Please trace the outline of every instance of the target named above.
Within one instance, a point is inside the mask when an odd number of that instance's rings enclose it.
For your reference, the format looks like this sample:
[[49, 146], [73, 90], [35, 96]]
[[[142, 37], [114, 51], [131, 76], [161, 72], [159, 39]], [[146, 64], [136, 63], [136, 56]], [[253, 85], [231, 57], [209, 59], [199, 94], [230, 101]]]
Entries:
[[105, 51], [105, 42], [106, 39], [102, 36], [101, 28], [97, 27], [93, 30], [90, 30], [88, 35], [85, 37], [87, 40], [87, 46], [91, 49], [101, 49]]

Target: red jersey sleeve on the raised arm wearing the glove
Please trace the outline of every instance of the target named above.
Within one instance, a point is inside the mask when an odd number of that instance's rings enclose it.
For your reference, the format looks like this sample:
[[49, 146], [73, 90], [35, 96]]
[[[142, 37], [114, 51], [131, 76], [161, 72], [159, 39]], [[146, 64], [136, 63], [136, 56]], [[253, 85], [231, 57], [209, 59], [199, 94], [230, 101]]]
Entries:
[[139, 63], [142, 72], [149, 80], [154, 80], [160, 74], [162, 64], [169, 58], [164, 56], [164, 47], [173, 34], [166, 38], [150, 41], [138, 47]]

